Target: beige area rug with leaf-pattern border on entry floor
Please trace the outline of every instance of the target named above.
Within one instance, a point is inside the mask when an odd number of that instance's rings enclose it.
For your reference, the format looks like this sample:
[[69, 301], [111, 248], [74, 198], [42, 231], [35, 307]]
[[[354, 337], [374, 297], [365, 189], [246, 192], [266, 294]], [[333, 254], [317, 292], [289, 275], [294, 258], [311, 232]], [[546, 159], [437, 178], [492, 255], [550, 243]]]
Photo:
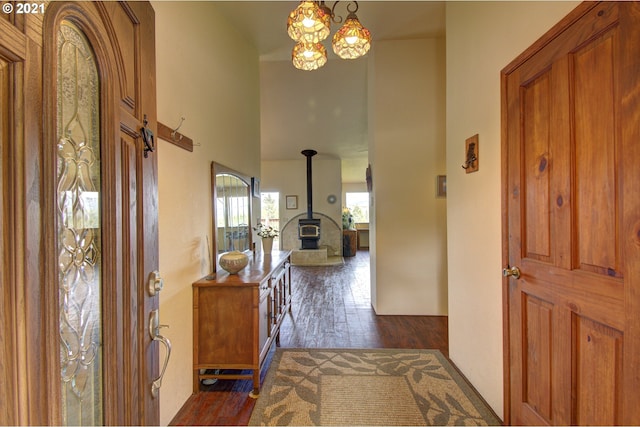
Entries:
[[438, 350], [278, 348], [249, 425], [500, 425]]

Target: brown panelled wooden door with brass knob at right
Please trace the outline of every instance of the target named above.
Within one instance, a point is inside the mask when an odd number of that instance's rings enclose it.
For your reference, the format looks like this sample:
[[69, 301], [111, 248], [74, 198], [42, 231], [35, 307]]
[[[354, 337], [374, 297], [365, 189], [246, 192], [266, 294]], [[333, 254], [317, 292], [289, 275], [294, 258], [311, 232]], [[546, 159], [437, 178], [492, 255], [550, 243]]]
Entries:
[[505, 423], [637, 425], [640, 4], [574, 10], [503, 70], [502, 117]]

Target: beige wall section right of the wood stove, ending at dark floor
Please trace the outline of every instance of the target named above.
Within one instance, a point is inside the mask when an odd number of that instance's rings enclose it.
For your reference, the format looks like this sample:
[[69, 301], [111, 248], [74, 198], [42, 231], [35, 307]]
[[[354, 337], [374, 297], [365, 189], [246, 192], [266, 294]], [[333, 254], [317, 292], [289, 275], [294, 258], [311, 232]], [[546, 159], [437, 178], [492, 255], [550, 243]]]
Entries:
[[381, 41], [370, 58], [372, 303], [378, 314], [446, 315], [444, 39]]

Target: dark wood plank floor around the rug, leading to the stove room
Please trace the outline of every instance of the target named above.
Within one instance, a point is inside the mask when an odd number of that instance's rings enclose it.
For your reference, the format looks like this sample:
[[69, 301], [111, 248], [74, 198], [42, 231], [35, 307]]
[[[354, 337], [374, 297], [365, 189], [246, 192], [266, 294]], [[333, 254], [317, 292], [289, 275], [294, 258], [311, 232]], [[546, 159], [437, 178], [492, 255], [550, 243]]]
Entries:
[[[375, 314], [367, 251], [341, 266], [293, 267], [292, 278], [293, 307], [282, 324], [281, 347], [430, 348], [449, 355], [446, 316]], [[255, 405], [251, 389], [250, 380], [201, 386], [203, 392], [189, 398], [171, 425], [247, 425]]]

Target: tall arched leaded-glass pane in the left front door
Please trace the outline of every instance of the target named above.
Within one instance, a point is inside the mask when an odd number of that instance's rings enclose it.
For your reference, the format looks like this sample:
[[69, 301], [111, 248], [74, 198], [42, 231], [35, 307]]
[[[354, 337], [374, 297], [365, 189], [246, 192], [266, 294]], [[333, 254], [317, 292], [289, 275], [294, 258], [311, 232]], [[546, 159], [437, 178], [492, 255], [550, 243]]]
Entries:
[[100, 221], [100, 82], [82, 31], [57, 43], [57, 254], [62, 416], [103, 424]]

